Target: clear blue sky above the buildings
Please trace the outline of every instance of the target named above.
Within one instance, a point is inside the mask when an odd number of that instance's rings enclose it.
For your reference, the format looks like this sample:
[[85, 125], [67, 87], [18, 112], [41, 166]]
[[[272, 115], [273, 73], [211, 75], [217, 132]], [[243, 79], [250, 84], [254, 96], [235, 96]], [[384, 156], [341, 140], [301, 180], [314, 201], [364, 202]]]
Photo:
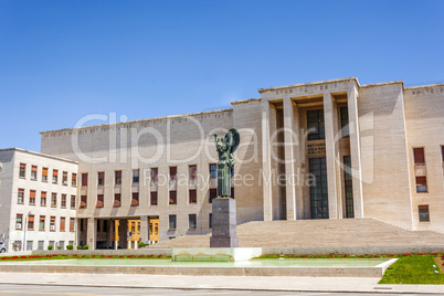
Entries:
[[444, 81], [444, 1], [0, 0], [0, 148], [88, 114], [230, 106], [357, 76]]

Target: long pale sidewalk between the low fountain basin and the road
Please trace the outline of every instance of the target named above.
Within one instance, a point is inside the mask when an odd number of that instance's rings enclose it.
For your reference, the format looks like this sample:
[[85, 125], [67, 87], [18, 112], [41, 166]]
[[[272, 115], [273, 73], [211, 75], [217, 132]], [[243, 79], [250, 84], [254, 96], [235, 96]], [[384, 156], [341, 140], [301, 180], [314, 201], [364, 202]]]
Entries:
[[0, 284], [356, 293], [434, 293], [444, 285], [378, 285], [374, 277], [170, 276], [137, 274], [0, 273]]

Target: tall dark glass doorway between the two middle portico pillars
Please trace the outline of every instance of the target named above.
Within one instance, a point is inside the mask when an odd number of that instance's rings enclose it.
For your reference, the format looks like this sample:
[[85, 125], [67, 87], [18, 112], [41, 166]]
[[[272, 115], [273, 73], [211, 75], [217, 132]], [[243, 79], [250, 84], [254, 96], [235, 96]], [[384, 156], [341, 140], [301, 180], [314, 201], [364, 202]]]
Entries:
[[311, 219], [328, 219], [328, 186], [326, 158], [310, 158], [309, 171], [315, 177], [310, 186]]

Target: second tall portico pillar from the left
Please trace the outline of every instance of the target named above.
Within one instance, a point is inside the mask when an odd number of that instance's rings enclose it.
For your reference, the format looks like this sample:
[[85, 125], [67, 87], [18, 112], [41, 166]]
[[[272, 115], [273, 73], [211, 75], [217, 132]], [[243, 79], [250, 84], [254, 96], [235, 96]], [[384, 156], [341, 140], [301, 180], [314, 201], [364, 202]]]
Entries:
[[285, 141], [285, 175], [286, 187], [285, 198], [287, 205], [287, 220], [296, 220], [296, 192], [295, 192], [295, 158], [293, 128], [293, 102], [292, 98], [284, 98], [284, 141]]

